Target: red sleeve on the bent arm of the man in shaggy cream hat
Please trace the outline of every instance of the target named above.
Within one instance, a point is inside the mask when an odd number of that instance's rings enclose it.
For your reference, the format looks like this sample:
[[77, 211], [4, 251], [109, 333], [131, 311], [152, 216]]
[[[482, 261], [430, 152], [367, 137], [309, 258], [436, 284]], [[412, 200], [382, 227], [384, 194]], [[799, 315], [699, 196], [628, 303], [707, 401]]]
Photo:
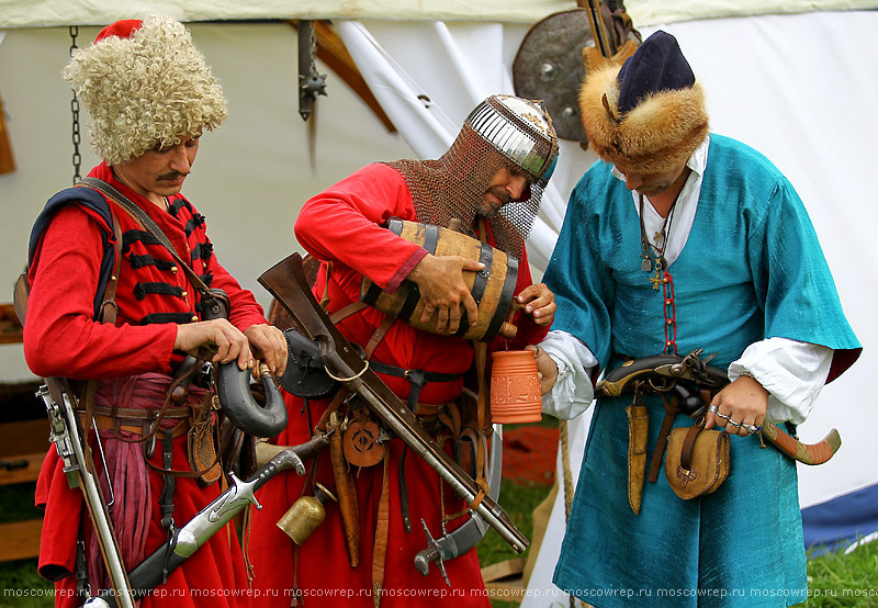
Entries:
[[176, 325], [92, 320], [102, 227], [80, 206], [58, 211], [29, 270], [24, 357], [41, 376], [101, 379], [169, 372]]

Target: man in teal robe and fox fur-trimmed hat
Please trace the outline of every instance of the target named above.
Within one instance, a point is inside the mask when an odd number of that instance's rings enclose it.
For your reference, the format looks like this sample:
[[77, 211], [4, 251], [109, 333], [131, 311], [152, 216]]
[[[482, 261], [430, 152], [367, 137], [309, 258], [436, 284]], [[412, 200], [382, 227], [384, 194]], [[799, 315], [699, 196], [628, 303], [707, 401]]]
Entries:
[[[554, 583], [599, 608], [804, 601], [795, 461], [756, 429], [803, 421], [860, 351], [804, 206], [764, 156], [709, 133], [665, 32], [589, 74], [579, 103], [601, 162], [574, 189], [544, 274], [558, 304], [537, 356], [544, 410], [579, 414], [624, 359], [703, 349], [732, 381], [705, 425], [732, 435], [731, 472], [683, 500], [662, 465], [630, 504], [631, 396], [598, 398]], [[643, 402], [650, 462], [665, 409]]]

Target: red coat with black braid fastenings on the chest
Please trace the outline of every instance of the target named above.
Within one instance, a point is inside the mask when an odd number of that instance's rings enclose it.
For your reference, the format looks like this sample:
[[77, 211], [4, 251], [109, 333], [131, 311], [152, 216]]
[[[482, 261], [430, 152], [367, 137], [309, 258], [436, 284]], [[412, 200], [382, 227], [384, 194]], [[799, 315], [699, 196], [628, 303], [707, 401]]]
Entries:
[[[240, 288], [212, 254], [204, 218], [180, 194], [172, 196], [172, 213], [115, 180], [105, 166], [90, 176], [101, 178], [135, 201], [171, 239], [177, 251], [192, 259], [192, 269], [211, 286], [221, 288], [230, 299], [229, 320], [244, 330], [266, 323], [252, 294]], [[196, 292], [187, 275], [178, 270], [171, 255], [136, 226], [124, 211], [116, 209], [123, 234], [123, 262], [120, 270], [116, 324], [92, 320], [93, 297], [103, 255], [102, 239], [112, 228], [100, 215], [80, 205], [59, 210], [43, 233], [29, 270], [31, 295], [24, 327], [24, 353], [31, 370], [42, 376], [109, 379], [145, 372], [170, 373], [177, 336], [176, 323], [200, 316]], [[158, 316], [157, 316], [158, 315]], [[119, 404], [124, 406], [125, 404]], [[160, 404], [159, 404], [160, 405]], [[161, 465], [161, 450], [153, 462]], [[185, 435], [175, 440], [173, 469], [188, 469]], [[162, 477], [150, 472], [153, 497], [161, 492]], [[218, 484], [201, 488], [190, 478], [178, 478], [175, 493], [175, 520], [178, 526], [210, 504], [219, 493]], [[40, 551], [40, 568], [52, 577], [74, 568], [77, 526], [82, 517], [79, 489], [67, 486], [63, 465], [50, 448], [36, 489], [37, 506], [46, 514]], [[146, 542], [150, 554], [167, 540], [160, 514], [154, 505]], [[219, 532], [183, 566], [168, 577], [156, 597], [140, 604], [165, 606], [244, 606], [249, 598], [211, 595], [210, 589], [246, 589], [247, 579], [234, 527]], [[126, 564], [128, 568], [136, 564]], [[57, 583], [58, 606], [75, 606], [76, 582], [67, 576]], [[194, 597], [189, 589], [196, 589]]]

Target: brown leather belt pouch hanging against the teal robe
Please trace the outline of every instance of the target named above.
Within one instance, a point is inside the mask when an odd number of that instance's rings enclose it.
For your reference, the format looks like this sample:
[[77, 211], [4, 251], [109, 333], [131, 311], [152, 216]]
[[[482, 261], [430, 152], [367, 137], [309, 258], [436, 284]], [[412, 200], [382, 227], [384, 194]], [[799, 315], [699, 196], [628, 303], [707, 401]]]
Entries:
[[702, 426], [677, 427], [667, 440], [665, 475], [684, 500], [714, 492], [729, 476], [729, 434]]

